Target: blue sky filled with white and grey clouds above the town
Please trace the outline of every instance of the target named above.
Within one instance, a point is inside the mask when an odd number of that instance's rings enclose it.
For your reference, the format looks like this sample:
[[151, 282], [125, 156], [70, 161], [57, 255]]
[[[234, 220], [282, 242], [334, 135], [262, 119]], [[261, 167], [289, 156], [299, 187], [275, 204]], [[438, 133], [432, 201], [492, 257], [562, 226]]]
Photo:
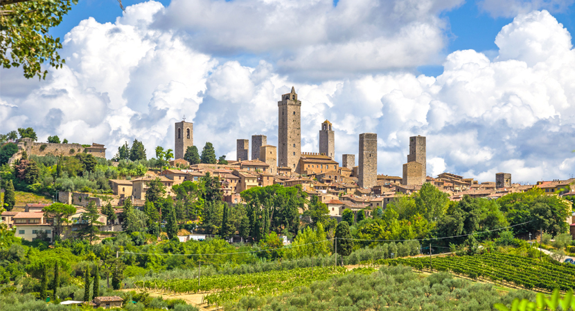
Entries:
[[401, 176], [409, 137], [427, 175], [494, 181], [575, 174], [575, 0], [80, 0], [51, 30], [64, 68], [0, 69], [0, 133], [32, 126], [97, 142], [174, 147], [174, 124], [236, 159], [236, 139], [277, 144], [295, 87], [302, 151], [321, 122], [335, 160], [378, 134], [378, 173]]

